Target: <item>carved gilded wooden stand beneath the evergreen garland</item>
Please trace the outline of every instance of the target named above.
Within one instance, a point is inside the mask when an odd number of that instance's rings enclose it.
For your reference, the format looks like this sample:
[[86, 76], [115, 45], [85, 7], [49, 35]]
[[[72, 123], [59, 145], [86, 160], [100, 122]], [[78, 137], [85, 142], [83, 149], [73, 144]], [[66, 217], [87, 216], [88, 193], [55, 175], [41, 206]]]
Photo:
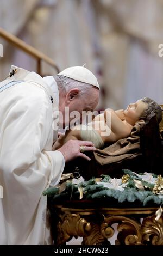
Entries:
[[83, 245], [109, 245], [108, 239], [115, 231], [112, 224], [117, 223], [116, 245], [163, 245], [163, 217], [155, 221], [157, 209], [79, 209], [54, 205], [51, 211], [54, 244], [63, 245], [73, 236], [82, 236]]

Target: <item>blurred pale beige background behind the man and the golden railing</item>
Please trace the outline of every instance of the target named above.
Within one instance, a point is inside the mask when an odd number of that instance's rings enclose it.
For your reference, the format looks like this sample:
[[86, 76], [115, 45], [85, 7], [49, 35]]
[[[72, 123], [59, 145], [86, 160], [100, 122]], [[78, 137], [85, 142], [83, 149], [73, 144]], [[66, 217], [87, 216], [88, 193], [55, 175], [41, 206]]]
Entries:
[[[101, 84], [98, 109], [143, 96], [163, 103], [163, 0], [1, 0], [0, 27], [52, 58], [59, 70], [84, 65]], [[11, 64], [36, 60], [0, 37], [0, 80]], [[41, 75], [57, 71], [41, 63]]]

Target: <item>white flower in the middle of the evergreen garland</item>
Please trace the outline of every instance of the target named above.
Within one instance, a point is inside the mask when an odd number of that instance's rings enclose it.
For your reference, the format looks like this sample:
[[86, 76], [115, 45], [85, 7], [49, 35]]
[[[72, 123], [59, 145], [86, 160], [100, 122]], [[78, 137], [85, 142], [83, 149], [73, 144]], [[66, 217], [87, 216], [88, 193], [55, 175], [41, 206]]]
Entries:
[[113, 190], [119, 190], [123, 191], [124, 187], [127, 186], [128, 183], [122, 183], [122, 179], [111, 179], [109, 182], [97, 182], [99, 185], [103, 185], [104, 187], [113, 189]]

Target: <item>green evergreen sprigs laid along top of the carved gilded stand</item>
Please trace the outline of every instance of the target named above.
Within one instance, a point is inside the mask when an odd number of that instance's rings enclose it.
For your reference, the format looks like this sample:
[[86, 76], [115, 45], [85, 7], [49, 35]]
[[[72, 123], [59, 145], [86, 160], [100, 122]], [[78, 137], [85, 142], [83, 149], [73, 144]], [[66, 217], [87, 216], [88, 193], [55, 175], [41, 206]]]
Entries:
[[[43, 192], [43, 196], [50, 197], [54, 202], [64, 202], [65, 200], [79, 200], [80, 193], [78, 187], [83, 188], [83, 200], [109, 200], [116, 199], [119, 203], [139, 201], [142, 205], [149, 202], [155, 204], [163, 203], [163, 198], [154, 194], [152, 189], [154, 184], [142, 180], [141, 176], [136, 176], [131, 170], [123, 170], [124, 174], [129, 174], [128, 184], [124, 187], [123, 191], [113, 188], [104, 187], [102, 182], [110, 182], [109, 175], [101, 175], [101, 184], [97, 184], [95, 178], [84, 181], [80, 184], [73, 184], [73, 182], [66, 182], [65, 190], [59, 193], [58, 187], [49, 187]], [[143, 173], [140, 175], [144, 175]], [[157, 178], [158, 175], [152, 174]], [[141, 181], [145, 190], [139, 190], [135, 186], [134, 179]]]

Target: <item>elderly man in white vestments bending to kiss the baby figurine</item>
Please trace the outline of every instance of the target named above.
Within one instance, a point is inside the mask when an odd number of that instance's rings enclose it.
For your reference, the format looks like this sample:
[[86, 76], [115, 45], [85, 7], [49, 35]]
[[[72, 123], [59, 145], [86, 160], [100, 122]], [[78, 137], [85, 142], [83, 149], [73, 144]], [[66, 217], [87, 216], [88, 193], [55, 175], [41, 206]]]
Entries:
[[82, 146], [95, 150], [92, 142], [68, 141], [53, 151], [58, 127], [53, 131], [52, 117], [60, 111], [65, 125], [65, 107], [70, 113], [93, 111], [98, 96], [96, 77], [82, 66], [43, 78], [11, 66], [0, 83], [1, 245], [51, 243], [42, 192], [58, 184], [65, 162], [79, 156], [90, 160]]

